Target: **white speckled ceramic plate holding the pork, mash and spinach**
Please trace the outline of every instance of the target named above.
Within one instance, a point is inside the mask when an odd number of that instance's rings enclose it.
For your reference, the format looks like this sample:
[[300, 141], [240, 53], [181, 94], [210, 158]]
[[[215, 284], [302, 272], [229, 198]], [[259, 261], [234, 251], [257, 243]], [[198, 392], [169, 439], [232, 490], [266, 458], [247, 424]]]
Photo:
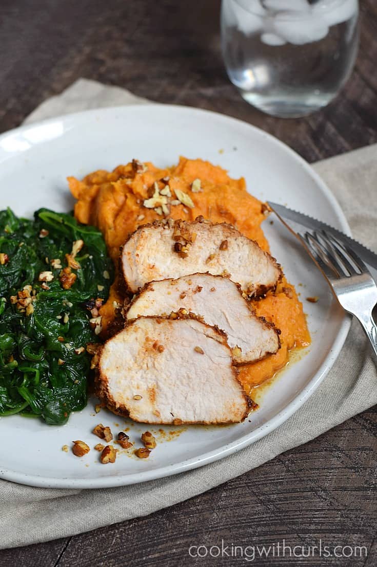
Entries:
[[[82, 177], [96, 169], [112, 169], [132, 158], [164, 167], [179, 155], [208, 159], [245, 176], [247, 188], [262, 200], [288, 204], [344, 230], [349, 227], [335, 198], [310, 166], [276, 138], [244, 122], [198, 109], [142, 105], [81, 112], [23, 126], [0, 137], [1, 208], [31, 215], [41, 206], [58, 211], [73, 204], [66, 176]], [[91, 434], [98, 422], [116, 433], [126, 420], [102, 410], [95, 399], [73, 414], [67, 425], [48, 426], [20, 416], [0, 418], [0, 477], [18, 483], [57, 488], [99, 488], [139, 483], [200, 467], [249, 445], [288, 419], [315, 391], [338, 356], [349, 329], [327, 285], [279, 222], [265, 223], [272, 253], [303, 298], [312, 344], [306, 356], [292, 363], [265, 390], [262, 405], [243, 424], [190, 426], [172, 441], [160, 442], [148, 460], [120, 454], [115, 464], [98, 462], [95, 450], [82, 459], [61, 447]], [[115, 425], [119, 424], [119, 425]], [[146, 426], [131, 426], [138, 440]], [[157, 430], [158, 428], [148, 428]], [[170, 430], [182, 428], [163, 428]], [[169, 435], [168, 435], [169, 437]], [[98, 439], [97, 439], [98, 441]], [[140, 444], [138, 445], [140, 446]]]

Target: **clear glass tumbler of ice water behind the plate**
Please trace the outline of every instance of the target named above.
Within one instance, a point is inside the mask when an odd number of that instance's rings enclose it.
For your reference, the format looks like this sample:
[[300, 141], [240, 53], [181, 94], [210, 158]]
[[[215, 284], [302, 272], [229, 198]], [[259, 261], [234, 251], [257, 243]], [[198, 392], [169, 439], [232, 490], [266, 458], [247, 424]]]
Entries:
[[273, 116], [327, 105], [352, 71], [358, 0], [222, 0], [221, 41], [230, 81]]

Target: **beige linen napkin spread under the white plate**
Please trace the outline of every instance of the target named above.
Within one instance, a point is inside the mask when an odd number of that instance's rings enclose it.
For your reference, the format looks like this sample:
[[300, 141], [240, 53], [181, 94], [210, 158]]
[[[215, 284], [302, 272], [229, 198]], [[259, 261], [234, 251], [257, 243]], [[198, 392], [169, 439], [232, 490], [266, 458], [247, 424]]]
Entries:
[[[140, 101], [147, 102], [121, 88], [80, 79], [42, 103], [27, 121]], [[376, 250], [377, 145], [324, 160], [314, 168], [335, 193], [355, 238]], [[61, 490], [0, 481], [0, 548], [79, 534], [196, 496], [376, 404], [376, 386], [376, 366], [359, 325], [353, 323], [339, 359], [306, 404], [278, 429], [234, 455], [194, 471], [119, 488]]]

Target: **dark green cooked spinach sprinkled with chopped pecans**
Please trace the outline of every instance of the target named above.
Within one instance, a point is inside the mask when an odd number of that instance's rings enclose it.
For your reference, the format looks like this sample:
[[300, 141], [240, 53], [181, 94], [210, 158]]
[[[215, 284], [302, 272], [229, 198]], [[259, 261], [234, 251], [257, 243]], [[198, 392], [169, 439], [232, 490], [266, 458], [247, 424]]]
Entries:
[[[87, 404], [89, 308], [113, 279], [101, 232], [71, 214], [0, 211], [0, 416], [65, 424]], [[99, 302], [99, 303], [98, 303]]]

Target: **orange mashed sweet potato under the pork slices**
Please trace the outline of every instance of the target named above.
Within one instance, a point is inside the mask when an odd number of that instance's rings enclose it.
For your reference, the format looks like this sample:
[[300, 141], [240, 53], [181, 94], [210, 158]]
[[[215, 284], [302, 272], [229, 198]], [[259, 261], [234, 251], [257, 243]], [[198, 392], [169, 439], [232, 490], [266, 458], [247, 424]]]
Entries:
[[[112, 172], [98, 170], [82, 181], [68, 177], [71, 193], [77, 200], [76, 219], [101, 230], [115, 266], [118, 265], [119, 247], [128, 235], [139, 226], [165, 216], [143, 204], [144, 200], [152, 196], [155, 181], [160, 189], [169, 185], [172, 199], [176, 200], [177, 189], [185, 192], [194, 205], [193, 208], [182, 204], [169, 206], [170, 212], [166, 216], [191, 221], [198, 215], [203, 215], [212, 222], [231, 223], [268, 251], [268, 242], [260, 226], [265, 219], [265, 206], [246, 191], [243, 177], [231, 179], [219, 166], [201, 159], [183, 157], [179, 159], [177, 166], [165, 169], [157, 168], [149, 162], [142, 166], [143, 164], [134, 162], [118, 166]], [[191, 189], [195, 179], [200, 179], [199, 192]], [[110, 298], [100, 311], [104, 332], [114, 319], [114, 302], [122, 301], [118, 281], [115, 280]], [[246, 393], [250, 393], [283, 367], [288, 361], [290, 350], [310, 343], [302, 304], [294, 287], [285, 278], [275, 293], [269, 292], [266, 297], [252, 301], [252, 304], [257, 315], [273, 321], [281, 329], [281, 348], [262, 361], [240, 368], [240, 379]]]

